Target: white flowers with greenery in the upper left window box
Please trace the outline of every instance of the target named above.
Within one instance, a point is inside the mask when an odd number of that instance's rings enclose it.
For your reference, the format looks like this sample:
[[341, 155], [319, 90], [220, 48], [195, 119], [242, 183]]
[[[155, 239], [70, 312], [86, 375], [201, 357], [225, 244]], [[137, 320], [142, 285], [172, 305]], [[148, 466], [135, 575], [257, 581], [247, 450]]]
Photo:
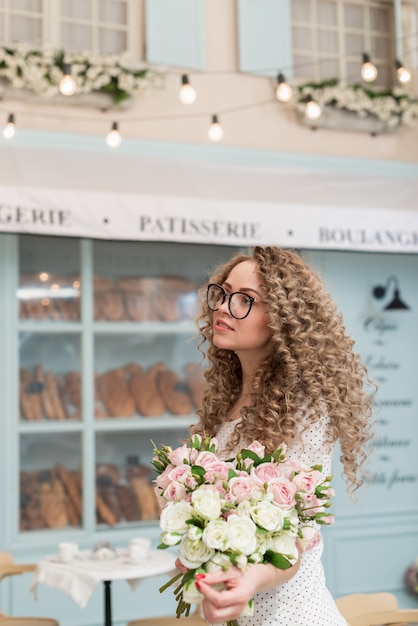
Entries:
[[129, 67], [125, 54], [70, 54], [53, 48], [31, 49], [25, 44], [0, 48], [0, 79], [13, 89], [26, 89], [49, 99], [60, 93], [65, 63], [71, 64], [76, 94], [104, 92], [115, 104], [162, 82], [162, 75], [148, 66]]

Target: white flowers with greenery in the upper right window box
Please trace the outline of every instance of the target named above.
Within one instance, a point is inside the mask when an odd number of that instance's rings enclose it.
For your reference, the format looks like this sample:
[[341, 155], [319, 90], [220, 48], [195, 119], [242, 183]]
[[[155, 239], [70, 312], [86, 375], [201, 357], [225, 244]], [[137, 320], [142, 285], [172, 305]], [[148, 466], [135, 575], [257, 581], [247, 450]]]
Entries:
[[374, 116], [390, 128], [401, 124], [415, 126], [418, 123], [418, 100], [410, 98], [401, 89], [372, 91], [362, 85], [346, 85], [337, 79], [323, 83], [299, 85], [294, 91], [290, 105], [304, 113], [306, 99], [311, 96], [319, 106], [351, 111], [359, 117]]

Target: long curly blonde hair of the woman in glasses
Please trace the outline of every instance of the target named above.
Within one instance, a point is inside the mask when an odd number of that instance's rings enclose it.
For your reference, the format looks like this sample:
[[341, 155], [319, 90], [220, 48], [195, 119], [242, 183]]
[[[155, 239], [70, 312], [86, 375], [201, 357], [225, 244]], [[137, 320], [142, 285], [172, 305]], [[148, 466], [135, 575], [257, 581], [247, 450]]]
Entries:
[[[235, 443], [239, 437], [257, 439], [272, 452], [283, 441], [291, 445], [298, 439], [301, 410], [309, 412], [311, 423], [325, 415], [327, 442], [340, 441], [344, 478], [348, 491], [354, 492], [364, 480], [370, 451], [366, 444], [372, 437], [375, 385], [322, 281], [297, 252], [256, 246], [252, 254], [238, 254], [218, 267], [210, 282], [222, 285], [236, 265], [248, 260], [258, 268], [272, 336], [252, 380], [253, 404], [241, 411]], [[202, 307], [199, 348], [208, 367], [199, 422], [192, 432], [213, 435], [240, 396], [241, 366], [235, 352], [213, 344], [212, 312], [204, 298]]]

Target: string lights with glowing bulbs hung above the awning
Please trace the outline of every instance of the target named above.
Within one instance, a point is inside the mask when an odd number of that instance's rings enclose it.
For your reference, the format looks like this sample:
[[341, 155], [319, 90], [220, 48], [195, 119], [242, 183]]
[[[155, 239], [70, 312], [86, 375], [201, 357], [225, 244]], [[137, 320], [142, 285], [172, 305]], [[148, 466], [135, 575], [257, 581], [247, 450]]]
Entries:
[[[404, 39], [411, 38], [416, 34], [418, 33], [410, 33], [406, 37], [402, 36], [401, 39], [402, 41], [404, 41]], [[408, 52], [410, 52], [411, 50], [413, 50], [413, 48], [408, 49]], [[353, 54], [351, 54], [350, 56], [353, 56]], [[310, 65], [312, 65], [312, 61], [310, 61], [309, 63]], [[224, 109], [218, 110], [216, 113], [205, 113], [205, 112], [191, 113], [191, 114], [189, 113], [187, 115], [187, 118], [193, 118], [193, 117], [194, 118], [204, 118], [204, 117], [209, 118], [210, 123], [208, 127], [208, 137], [213, 142], [219, 142], [222, 140], [224, 136], [224, 130], [221, 125], [221, 117], [230, 113], [235, 113], [240, 110], [248, 110], [248, 109], [258, 108], [260, 106], [264, 106], [267, 104], [273, 104], [276, 100], [282, 103], [289, 102], [292, 99], [294, 88], [286, 80], [285, 74], [288, 71], [297, 72], [298, 70], [301, 69], [300, 66], [303, 66], [306, 64], [307, 63], [299, 63], [297, 64], [297, 66], [295, 65], [292, 66], [292, 68], [280, 69], [280, 71], [277, 73], [277, 78], [276, 78], [275, 97], [273, 96], [269, 100], [263, 100], [262, 102], [253, 102], [253, 103], [244, 104], [244, 105], [240, 105], [236, 107], [224, 108]], [[394, 67], [396, 70], [396, 77], [400, 85], [402, 86], [407, 85], [412, 78], [411, 70], [407, 68], [406, 66], [404, 66], [404, 64], [402, 63], [400, 59], [394, 60]], [[253, 71], [251, 73], [250, 72], [232, 72], [229, 70], [208, 71], [208, 72], [193, 71], [189, 73], [184, 73], [181, 71], [170, 71], [169, 73], [179, 74], [180, 87], [179, 87], [178, 97], [179, 97], [180, 102], [184, 104], [186, 107], [188, 107], [194, 104], [197, 99], [196, 89], [193, 87], [192, 81], [190, 79], [190, 76], [193, 74], [200, 74], [200, 73], [204, 73], [205, 75], [243, 74], [247, 76], [250, 75], [251, 77], [258, 77], [258, 78], [266, 79], [266, 74], [271, 74], [275, 72], [277, 72], [277, 68], [276, 69], [270, 68], [268, 70], [263, 69], [263, 70]], [[359, 75], [365, 83], [373, 83], [377, 78], [378, 70], [376, 68], [376, 65], [372, 62], [370, 54], [367, 52], [361, 53], [361, 66], [359, 70]], [[76, 82], [71, 74], [71, 64], [65, 63], [64, 68], [63, 68], [63, 77], [59, 85], [60, 93], [70, 98], [76, 93], [76, 87], [77, 87]], [[317, 102], [315, 102], [312, 95], [306, 96], [304, 102], [305, 102], [305, 109], [304, 109], [305, 116], [309, 120], [317, 120], [322, 114], [320, 105]], [[24, 115], [27, 115], [27, 114], [28, 114], [27, 111], [25, 111]], [[41, 114], [37, 112], [36, 115], [37, 117], [39, 117]], [[179, 120], [179, 119], [184, 119], [185, 117], [186, 116], [182, 114], [181, 115], [149, 116], [149, 117], [144, 117], [144, 116], [126, 117], [125, 116], [124, 121], [126, 123], [131, 124], [131, 123], [136, 123], [136, 122]], [[66, 116], [66, 119], [68, 119], [68, 116]], [[77, 119], [78, 121], [82, 121], [82, 118], [80, 117], [77, 117], [77, 118], [74, 117], [74, 119]], [[88, 121], [90, 120], [91, 120], [91, 116], [89, 116], [88, 118]], [[13, 139], [13, 137], [15, 136], [15, 131], [16, 131], [16, 113], [15, 112], [8, 113], [7, 121], [3, 129], [3, 136], [5, 137], [5, 139], [8, 139], [8, 140]], [[117, 148], [121, 145], [122, 135], [121, 135], [120, 127], [119, 127], [119, 121], [114, 120], [111, 122], [110, 129], [106, 135], [106, 143], [110, 148]]]

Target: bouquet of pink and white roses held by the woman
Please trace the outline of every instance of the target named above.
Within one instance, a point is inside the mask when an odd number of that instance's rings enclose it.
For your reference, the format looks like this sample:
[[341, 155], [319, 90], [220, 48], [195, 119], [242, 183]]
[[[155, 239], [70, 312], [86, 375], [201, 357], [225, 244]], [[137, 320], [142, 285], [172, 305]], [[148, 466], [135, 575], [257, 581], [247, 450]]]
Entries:
[[[287, 569], [298, 558], [298, 546], [312, 548], [318, 524], [332, 524], [331, 476], [322, 466], [305, 467], [286, 458], [283, 444], [272, 454], [254, 441], [235, 458], [217, 456], [216, 438], [194, 435], [172, 449], [154, 445], [152, 464], [158, 476], [156, 494], [162, 511], [159, 548], [179, 546], [178, 558], [188, 568], [177, 574], [177, 617], [188, 615], [202, 595], [196, 574], [235, 565], [271, 563]], [[252, 601], [245, 614], [252, 614]]]

